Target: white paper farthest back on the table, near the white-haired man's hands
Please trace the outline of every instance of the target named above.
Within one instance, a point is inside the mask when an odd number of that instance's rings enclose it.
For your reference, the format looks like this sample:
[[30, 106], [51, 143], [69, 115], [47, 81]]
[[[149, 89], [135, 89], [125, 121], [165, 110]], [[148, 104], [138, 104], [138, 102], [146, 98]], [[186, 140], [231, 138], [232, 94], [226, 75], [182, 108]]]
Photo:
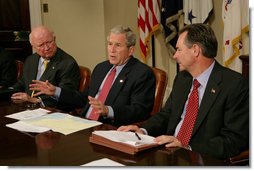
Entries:
[[27, 119], [33, 119], [37, 117], [41, 117], [43, 115], [48, 114], [50, 111], [46, 109], [34, 109], [34, 110], [25, 110], [22, 112], [6, 115], [5, 117], [17, 119], [17, 120], [27, 120]]

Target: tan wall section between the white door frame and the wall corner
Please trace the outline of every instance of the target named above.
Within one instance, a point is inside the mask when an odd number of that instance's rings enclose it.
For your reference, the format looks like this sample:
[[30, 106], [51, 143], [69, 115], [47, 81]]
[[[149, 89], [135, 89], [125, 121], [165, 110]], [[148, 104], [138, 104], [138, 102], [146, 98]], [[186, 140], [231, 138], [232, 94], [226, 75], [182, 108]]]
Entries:
[[41, 0], [48, 4], [43, 24], [51, 28], [59, 47], [91, 69], [106, 59], [102, 0]]

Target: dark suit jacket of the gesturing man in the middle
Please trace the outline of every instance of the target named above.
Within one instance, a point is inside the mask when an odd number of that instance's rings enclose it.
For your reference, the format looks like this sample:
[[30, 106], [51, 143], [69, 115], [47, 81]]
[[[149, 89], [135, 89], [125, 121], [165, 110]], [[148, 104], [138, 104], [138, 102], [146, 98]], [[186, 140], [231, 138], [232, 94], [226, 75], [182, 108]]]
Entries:
[[[62, 89], [59, 102], [83, 107], [85, 115], [89, 108], [87, 96], [95, 97], [111, 67], [109, 61], [98, 64], [92, 72], [91, 83], [85, 92], [81, 94]], [[120, 126], [147, 119], [153, 108], [154, 93], [153, 71], [138, 59], [131, 57], [113, 83], [105, 101], [105, 105], [113, 108], [114, 119], [100, 117], [100, 121]]]

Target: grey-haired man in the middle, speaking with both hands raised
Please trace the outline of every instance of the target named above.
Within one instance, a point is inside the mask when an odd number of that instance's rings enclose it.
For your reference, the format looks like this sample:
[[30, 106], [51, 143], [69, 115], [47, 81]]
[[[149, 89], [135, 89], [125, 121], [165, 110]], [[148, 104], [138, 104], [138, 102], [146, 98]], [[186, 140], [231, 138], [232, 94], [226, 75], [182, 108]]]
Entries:
[[[149, 66], [132, 56], [135, 44], [136, 35], [130, 28], [113, 28], [108, 36], [108, 60], [95, 67], [83, 93], [59, 90], [48, 81], [36, 80], [31, 90], [39, 91], [36, 96], [52, 95], [59, 97], [61, 104], [83, 107], [83, 115], [103, 123], [119, 126], [143, 121], [153, 108], [155, 76]], [[111, 71], [114, 74], [108, 84]], [[104, 91], [105, 87], [111, 87], [109, 92]]]

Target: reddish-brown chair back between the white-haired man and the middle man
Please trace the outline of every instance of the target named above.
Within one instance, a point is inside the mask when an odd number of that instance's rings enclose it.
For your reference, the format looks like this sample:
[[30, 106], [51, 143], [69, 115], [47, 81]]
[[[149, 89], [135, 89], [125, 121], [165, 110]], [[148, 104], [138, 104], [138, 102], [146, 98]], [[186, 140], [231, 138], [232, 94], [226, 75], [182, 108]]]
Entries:
[[79, 83], [79, 91], [84, 91], [86, 87], [88, 87], [90, 83], [91, 71], [89, 68], [84, 66], [79, 66], [80, 72], [80, 83]]

